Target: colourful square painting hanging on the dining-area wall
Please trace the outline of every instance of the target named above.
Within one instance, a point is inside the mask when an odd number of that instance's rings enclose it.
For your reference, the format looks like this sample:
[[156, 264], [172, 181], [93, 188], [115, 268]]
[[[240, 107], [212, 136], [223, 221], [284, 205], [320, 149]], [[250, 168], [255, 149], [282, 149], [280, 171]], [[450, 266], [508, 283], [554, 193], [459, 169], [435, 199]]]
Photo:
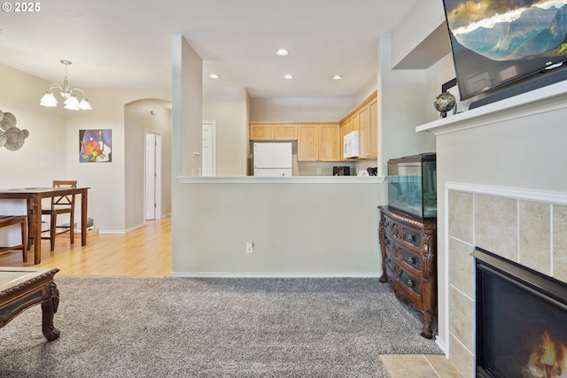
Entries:
[[79, 130], [79, 161], [108, 163], [113, 161], [113, 138], [110, 129]]

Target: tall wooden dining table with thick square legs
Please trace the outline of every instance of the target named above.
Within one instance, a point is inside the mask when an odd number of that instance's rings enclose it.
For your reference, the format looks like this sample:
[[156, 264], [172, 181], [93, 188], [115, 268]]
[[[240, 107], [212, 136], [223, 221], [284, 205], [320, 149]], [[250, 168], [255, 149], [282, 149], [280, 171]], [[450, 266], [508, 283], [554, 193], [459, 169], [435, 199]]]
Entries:
[[[1, 199], [25, 199], [27, 224], [34, 243], [34, 264], [42, 262], [42, 199], [64, 195], [81, 195], [81, 245], [87, 245], [87, 194], [89, 188], [19, 188], [0, 189]], [[73, 227], [73, 225], [70, 225]], [[70, 232], [74, 232], [72, 229]]]

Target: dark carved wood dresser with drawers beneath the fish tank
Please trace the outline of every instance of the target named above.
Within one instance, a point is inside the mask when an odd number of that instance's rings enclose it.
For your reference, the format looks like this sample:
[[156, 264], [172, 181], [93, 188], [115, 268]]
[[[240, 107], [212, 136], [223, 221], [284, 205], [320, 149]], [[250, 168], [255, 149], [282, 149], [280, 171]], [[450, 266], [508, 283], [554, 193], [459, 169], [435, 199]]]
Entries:
[[384, 274], [396, 296], [423, 312], [421, 335], [433, 337], [437, 319], [437, 221], [419, 220], [379, 206], [380, 249]]

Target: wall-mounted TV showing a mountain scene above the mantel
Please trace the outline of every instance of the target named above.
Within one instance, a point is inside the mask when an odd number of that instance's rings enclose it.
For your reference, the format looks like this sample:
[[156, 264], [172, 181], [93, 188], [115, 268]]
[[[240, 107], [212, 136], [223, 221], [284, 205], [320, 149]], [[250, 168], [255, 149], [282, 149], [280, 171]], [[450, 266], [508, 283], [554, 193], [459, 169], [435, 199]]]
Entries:
[[461, 99], [567, 60], [567, 0], [444, 0]]

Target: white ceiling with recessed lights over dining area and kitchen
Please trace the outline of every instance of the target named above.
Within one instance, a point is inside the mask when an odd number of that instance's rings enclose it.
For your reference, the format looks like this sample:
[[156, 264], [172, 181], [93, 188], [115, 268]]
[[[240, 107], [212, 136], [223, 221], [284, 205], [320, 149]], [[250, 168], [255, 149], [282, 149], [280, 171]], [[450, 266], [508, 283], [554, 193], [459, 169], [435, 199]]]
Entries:
[[[66, 59], [75, 87], [170, 88], [171, 36], [181, 34], [203, 59], [206, 96], [352, 97], [376, 77], [379, 35], [415, 3], [44, 1], [38, 12], [0, 12], [0, 64], [62, 84]], [[290, 54], [276, 56], [279, 48]]]

